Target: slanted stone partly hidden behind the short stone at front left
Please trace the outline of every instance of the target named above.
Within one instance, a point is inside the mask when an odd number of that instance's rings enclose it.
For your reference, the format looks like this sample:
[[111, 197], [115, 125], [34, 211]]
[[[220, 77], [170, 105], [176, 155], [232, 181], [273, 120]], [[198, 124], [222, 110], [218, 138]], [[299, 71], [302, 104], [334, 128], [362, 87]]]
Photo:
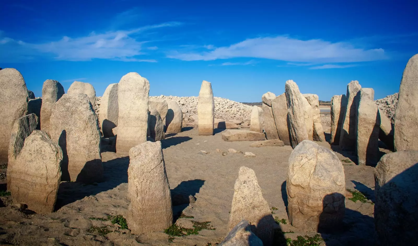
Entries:
[[7, 168], [7, 189], [10, 190], [11, 185], [11, 174], [13, 165], [16, 160], [16, 156], [20, 153], [27, 138], [31, 133], [36, 130], [38, 125], [38, 117], [32, 113], [25, 115], [15, 120], [13, 128], [11, 130], [9, 152], [8, 152], [8, 168]]

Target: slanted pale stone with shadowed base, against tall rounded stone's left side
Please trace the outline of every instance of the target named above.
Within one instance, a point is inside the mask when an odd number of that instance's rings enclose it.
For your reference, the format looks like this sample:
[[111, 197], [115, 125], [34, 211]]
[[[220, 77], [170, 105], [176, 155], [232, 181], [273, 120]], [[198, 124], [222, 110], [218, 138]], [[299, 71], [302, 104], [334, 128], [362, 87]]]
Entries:
[[119, 119], [118, 83], [107, 86], [100, 99], [99, 124], [105, 138], [114, 137], [112, 129], [117, 127]]

